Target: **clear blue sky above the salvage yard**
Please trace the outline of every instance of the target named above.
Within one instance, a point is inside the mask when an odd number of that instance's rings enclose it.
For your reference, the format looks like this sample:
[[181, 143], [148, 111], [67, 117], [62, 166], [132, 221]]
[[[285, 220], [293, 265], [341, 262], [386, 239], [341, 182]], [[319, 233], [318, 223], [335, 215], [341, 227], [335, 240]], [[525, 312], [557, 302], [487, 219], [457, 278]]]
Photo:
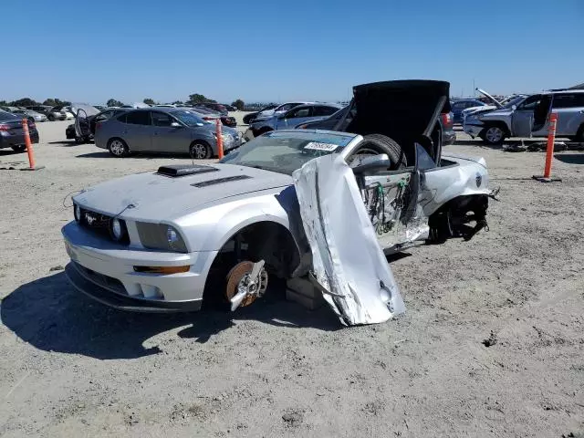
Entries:
[[584, 0], [3, 3], [0, 99], [338, 100], [394, 78], [448, 80], [453, 95], [473, 82], [493, 93], [584, 82]]

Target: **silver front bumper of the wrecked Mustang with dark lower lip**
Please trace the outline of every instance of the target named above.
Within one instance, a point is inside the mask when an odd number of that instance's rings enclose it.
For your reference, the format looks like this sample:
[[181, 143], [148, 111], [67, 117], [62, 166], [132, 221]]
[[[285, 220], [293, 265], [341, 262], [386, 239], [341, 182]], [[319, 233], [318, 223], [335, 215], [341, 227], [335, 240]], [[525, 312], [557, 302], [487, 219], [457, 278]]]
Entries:
[[[61, 230], [71, 258], [73, 286], [115, 308], [137, 311], [190, 311], [201, 308], [216, 251], [172, 253], [110, 242], [70, 222]], [[134, 271], [134, 266], [191, 266], [179, 274]], [[156, 309], [156, 310], [154, 310]]]

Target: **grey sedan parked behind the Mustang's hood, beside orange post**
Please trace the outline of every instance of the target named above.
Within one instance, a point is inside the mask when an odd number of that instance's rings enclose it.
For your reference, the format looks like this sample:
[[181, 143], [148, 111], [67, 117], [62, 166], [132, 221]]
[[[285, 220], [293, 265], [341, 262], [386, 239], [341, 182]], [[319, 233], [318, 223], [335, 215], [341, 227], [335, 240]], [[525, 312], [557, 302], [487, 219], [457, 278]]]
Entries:
[[[237, 131], [224, 127], [224, 151], [241, 144]], [[130, 151], [189, 153], [193, 158], [217, 155], [215, 125], [191, 110], [149, 108], [130, 110], [96, 123], [95, 145], [116, 157]]]

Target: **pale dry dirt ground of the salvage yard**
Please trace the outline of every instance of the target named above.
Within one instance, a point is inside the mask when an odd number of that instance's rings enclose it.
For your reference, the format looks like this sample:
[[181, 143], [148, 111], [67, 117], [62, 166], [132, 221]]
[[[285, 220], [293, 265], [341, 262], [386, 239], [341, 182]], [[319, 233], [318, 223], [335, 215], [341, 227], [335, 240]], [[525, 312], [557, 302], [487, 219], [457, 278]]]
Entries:
[[61, 270], [68, 193], [188, 159], [116, 159], [66, 125], [39, 125], [46, 169], [0, 171], [0, 436], [584, 433], [584, 154], [556, 154], [562, 183], [537, 183], [543, 153], [459, 132], [445, 152], [484, 156], [501, 187], [490, 231], [392, 260], [406, 314], [343, 328], [276, 296], [168, 316], [79, 295]]

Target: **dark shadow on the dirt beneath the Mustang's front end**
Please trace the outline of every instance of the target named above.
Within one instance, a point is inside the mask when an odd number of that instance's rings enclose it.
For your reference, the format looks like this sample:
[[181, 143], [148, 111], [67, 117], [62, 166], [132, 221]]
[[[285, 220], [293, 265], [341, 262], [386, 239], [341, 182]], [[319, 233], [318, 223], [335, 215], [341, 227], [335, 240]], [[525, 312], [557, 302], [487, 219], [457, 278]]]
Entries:
[[235, 326], [235, 321], [245, 319], [287, 328], [336, 330], [342, 327], [328, 307], [310, 312], [267, 294], [261, 302], [240, 308], [235, 314], [123, 312], [76, 292], [62, 272], [18, 287], [2, 300], [0, 316], [7, 328], [37, 349], [96, 359], [135, 359], [160, 353], [158, 347], [145, 348], [143, 342], [186, 325], [191, 327], [184, 328], [179, 336], [202, 343]]

